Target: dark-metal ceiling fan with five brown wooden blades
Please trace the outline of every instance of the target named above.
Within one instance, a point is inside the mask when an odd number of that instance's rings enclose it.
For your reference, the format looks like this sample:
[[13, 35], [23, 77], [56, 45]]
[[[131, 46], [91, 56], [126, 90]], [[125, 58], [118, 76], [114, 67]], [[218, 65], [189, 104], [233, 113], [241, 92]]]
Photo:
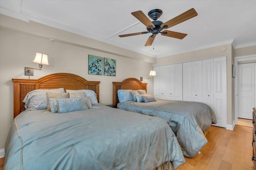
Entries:
[[148, 16], [152, 20], [154, 20], [151, 22], [142, 11], [132, 12], [131, 14], [135, 18], [137, 18], [140, 22], [142, 22], [144, 25], [146, 25], [148, 31], [139, 32], [139, 33], [130, 33], [130, 34], [124, 34], [124, 35], [118, 35], [118, 36], [119, 37], [128, 37], [128, 36], [133, 36], [133, 35], [152, 33], [152, 35], [150, 35], [148, 37], [148, 40], [147, 40], [145, 46], [152, 45], [152, 43], [158, 33], [161, 33], [161, 35], [164, 35], [167, 37], [183, 39], [188, 34], [174, 32], [174, 31], [168, 31], [168, 30], [163, 31], [163, 29], [168, 29], [174, 25], [177, 25], [178, 23], [181, 23], [183, 21], [186, 21], [186, 20], [198, 15], [196, 10], [194, 8], [191, 8], [190, 10], [180, 14], [179, 16], [176, 16], [175, 18], [172, 18], [171, 20], [169, 20], [165, 23], [163, 23], [162, 21], [156, 21], [162, 15], [162, 13], [163, 13], [162, 10], [159, 10], [159, 9], [150, 10], [150, 12], [148, 12]]

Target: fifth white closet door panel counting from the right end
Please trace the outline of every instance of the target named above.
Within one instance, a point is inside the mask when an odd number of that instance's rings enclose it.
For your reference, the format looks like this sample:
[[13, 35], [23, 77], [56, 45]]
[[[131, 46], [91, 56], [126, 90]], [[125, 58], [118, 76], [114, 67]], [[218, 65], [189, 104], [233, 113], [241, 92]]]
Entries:
[[174, 64], [174, 100], [182, 101], [182, 63]]

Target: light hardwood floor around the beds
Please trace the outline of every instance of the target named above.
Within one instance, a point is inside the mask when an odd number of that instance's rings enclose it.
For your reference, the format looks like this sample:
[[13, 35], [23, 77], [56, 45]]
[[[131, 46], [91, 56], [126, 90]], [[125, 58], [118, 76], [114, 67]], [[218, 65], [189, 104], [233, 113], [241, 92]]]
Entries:
[[[251, 127], [235, 125], [230, 131], [211, 126], [206, 138], [201, 154], [185, 158], [177, 170], [253, 170]], [[3, 165], [4, 158], [0, 158], [0, 170]]]

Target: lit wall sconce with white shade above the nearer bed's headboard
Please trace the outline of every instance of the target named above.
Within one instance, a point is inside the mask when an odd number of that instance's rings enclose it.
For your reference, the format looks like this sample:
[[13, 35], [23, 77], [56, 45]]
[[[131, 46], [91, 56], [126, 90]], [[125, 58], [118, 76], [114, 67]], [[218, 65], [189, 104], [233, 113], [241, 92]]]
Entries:
[[42, 54], [42, 53], [36, 53], [36, 57], [32, 61], [32, 63], [38, 63], [39, 68], [25, 67], [25, 76], [34, 76], [34, 69], [42, 70], [42, 67], [44, 65], [49, 66], [48, 55], [47, 54]]

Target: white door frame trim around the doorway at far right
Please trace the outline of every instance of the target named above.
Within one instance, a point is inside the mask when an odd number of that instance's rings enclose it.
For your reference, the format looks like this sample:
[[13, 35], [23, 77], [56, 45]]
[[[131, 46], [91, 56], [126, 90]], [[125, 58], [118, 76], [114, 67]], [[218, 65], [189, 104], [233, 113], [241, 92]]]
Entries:
[[234, 94], [234, 121], [235, 124], [238, 124], [238, 87], [236, 86], [238, 80], [238, 68], [237, 68], [237, 64], [238, 61], [250, 61], [250, 60], [256, 60], [256, 55], [246, 55], [246, 56], [241, 56], [241, 57], [234, 57], [234, 69], [235, 69], [235, 78], [234, 78], [234, 90], [235, 90], [235, 94]]

